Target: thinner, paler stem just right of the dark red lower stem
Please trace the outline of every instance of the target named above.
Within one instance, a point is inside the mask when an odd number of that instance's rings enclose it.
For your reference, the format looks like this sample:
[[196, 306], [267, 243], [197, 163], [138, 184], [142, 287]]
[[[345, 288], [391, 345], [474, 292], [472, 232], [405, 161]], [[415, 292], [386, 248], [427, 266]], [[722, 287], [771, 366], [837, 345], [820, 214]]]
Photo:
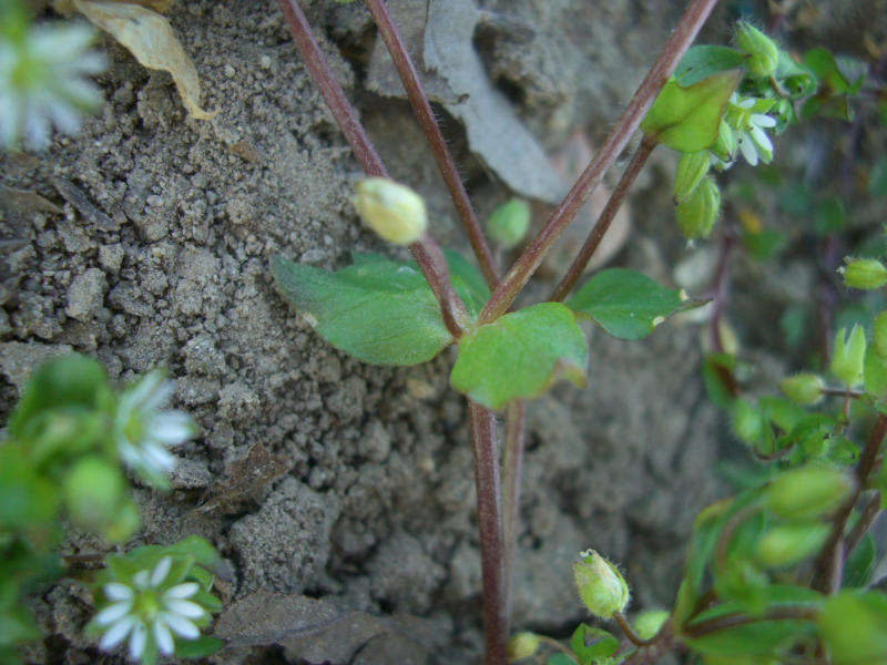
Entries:
[[504, 541], [506, 612], [511, 616], [511, 581], [520, 514], [520, 478], [523, 469], [524, 410], [516, 399], [506, 410], [504, 449], [502, 450], [502, 538]]

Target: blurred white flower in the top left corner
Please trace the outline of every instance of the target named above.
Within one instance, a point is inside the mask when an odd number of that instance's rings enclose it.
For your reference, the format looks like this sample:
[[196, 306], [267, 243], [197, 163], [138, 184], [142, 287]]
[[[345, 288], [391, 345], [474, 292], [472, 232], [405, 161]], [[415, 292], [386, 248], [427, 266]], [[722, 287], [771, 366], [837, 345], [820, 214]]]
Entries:
[[23, 135], [29, 147], [43, 150], [51, 124], [75, 133], [80, 113], [101, 104], [100, 90], [86, 76], [103, 71], [105, 59], [88, 51], [90, 27], [17, 28], [0, 37], [0, 147], [18, 145]]

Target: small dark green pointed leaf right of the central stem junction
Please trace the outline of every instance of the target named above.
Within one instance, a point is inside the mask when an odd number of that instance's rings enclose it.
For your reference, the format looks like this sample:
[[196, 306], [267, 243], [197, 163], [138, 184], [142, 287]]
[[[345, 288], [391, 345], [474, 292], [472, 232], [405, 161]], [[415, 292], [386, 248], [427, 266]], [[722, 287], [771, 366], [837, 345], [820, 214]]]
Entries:
[[676, 288], [662, 287], [646, 275], [625, 268], [601, 270], [567, 305], [620, 339], [641, 339], [687, 307]]

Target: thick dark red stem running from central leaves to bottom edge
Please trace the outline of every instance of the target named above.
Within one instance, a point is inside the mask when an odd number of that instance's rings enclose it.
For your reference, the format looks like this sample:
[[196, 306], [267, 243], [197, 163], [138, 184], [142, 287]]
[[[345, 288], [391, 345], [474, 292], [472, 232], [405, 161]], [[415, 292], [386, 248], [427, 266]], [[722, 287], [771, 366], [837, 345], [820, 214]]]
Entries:
[[502, 503], [496, 415], [468, 400], [475, 484], [480, 531], [480, 573], [483, 584], [483, 662], [503, 665], [508, 645], [508, 613], [502, 548]]

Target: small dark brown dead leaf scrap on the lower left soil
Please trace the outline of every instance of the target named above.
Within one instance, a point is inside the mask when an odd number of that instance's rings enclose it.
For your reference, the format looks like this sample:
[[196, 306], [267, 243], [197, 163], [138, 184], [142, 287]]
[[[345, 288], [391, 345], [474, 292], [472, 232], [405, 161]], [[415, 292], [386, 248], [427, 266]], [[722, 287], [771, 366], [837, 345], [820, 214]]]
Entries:
[[289, 467], [286, 456], [271, 454], [262, 443], [255, 443], [245, 458], [228, 464], [227, 478], [207, 490], [208, 499], [197, 510], [236, 512], [241, 503], [256, 499], [262, 490], [289, 471]]

